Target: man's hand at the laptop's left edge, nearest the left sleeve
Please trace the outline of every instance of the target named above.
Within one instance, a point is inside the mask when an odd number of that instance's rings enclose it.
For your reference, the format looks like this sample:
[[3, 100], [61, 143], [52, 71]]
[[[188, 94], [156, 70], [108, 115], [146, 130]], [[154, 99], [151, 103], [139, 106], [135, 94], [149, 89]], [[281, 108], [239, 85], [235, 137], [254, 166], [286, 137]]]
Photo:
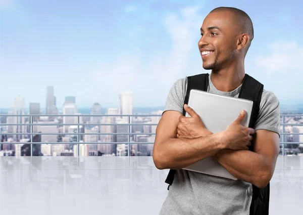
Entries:
[[184, 109], [191, 117], [179, 117], [177, 138], [194, 139], [213, 134], [207, 130], [200, 116], [191, 107], [185, 104]]

